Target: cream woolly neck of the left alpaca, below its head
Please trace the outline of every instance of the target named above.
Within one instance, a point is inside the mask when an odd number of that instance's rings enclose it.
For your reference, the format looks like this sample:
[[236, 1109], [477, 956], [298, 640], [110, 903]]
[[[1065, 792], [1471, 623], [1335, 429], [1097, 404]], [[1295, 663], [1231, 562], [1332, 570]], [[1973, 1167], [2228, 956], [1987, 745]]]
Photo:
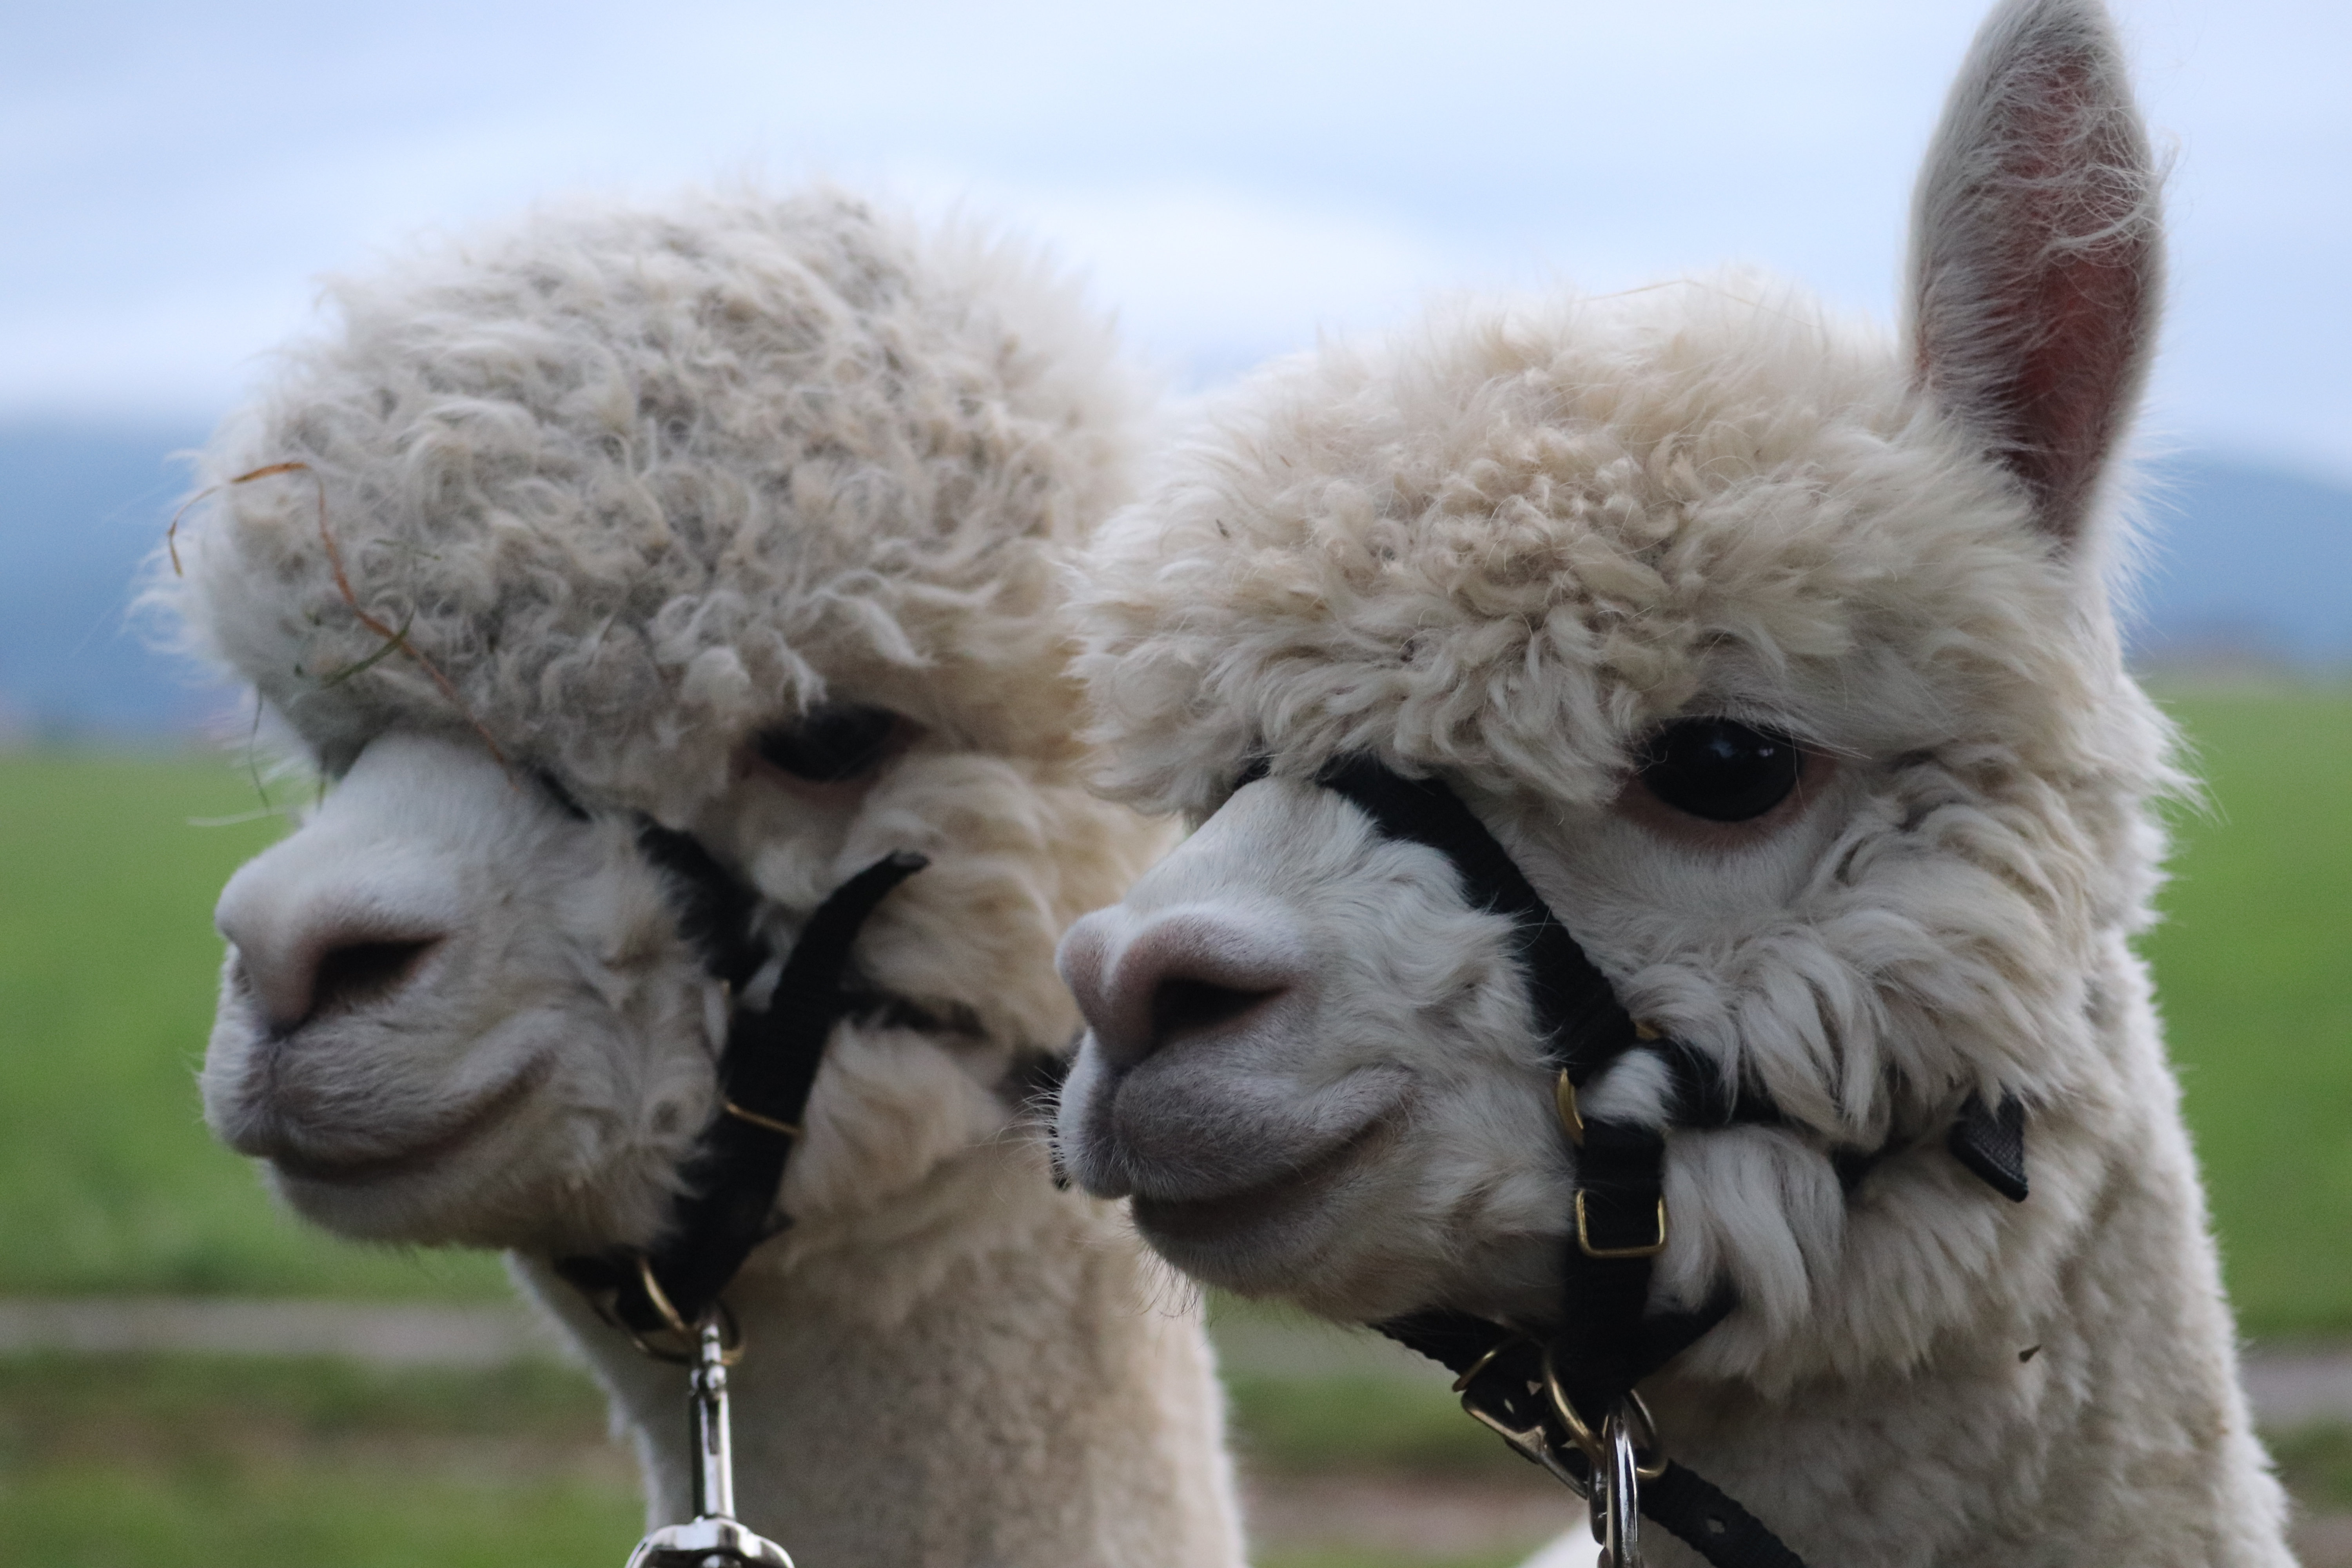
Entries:
[[[635, 1439], [649, 1519], [687, 1519], [684, 1373], [543, 1260], [515, 1272]], [[779, 1237], [727, 1291], [739, 1516], [823, 1568], [1235, 1568], [1207, 1340], [1152, 1284], [1124, 1225], [1056, 1192], [1021, 1140]]]

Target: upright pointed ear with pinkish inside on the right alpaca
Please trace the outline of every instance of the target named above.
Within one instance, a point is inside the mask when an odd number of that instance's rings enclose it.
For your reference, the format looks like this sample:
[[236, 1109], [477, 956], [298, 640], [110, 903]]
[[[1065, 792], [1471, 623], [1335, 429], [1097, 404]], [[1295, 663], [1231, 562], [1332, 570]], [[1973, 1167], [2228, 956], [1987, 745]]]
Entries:
[[2157, 172], [2100, 0], [2002, 0], [1912, 200], [1919, 386], [2072, 543], [2131, 421], [2164, 273]]

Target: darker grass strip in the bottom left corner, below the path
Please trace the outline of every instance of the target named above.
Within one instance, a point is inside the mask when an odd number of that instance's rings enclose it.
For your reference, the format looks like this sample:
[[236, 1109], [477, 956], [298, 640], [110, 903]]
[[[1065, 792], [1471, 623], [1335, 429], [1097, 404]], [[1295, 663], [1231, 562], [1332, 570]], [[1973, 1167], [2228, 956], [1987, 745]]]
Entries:
[[5, 1568], [588, 1568], [642, 1509], [553, 1366], [0, 1361]]

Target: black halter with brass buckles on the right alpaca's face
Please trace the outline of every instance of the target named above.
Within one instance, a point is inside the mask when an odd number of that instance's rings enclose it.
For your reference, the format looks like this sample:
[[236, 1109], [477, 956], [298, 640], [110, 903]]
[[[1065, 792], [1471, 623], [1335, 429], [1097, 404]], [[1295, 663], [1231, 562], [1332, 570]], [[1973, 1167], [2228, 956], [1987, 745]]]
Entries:
[[[1268, 764], [1256, 762], [1240, 785], [1265, 771]], [[1515, 1439], [1526, 1458], [1564, 1469], [1562, 1479], [1571, 1486], [1590, 1483], [1588, 1448], [1566, 1427], [1559, 1403], [1578, 1413], [1588, 1432], [1599, 1432], [1602, 1415], [1722, 1324], [1738, 1307], [1738, 1295], [1726, 1281], [1696, 1309], [1646, 1309], [1651, 1267], [1668, 1239], [1665, 1135], [1585, 1117], [1576, 1095], [1604, 1067], [1649, 1053], [1672, 1084], [1668, 1126], [1785, 1124], [1785, 1117], [1759, 1084], [1726, 1084], [1698, 1051], [1635, 1023], [1609, 978], [1444, 780], [1404, 778], [1371, 757], [1341, 757], [1315, 783], [1362, 809], [1381, 835], [1442, 853], [1472, 907], [1512, 919], [1536, 1030], [1557, 1070], [1562, 1131], [1576, 1145], [1562, 1312], [1543, 1338], [1468, 1312], [1418, 1312], [1374, 1328], [1458, 1373], [1463, 1406]], [[2023, 1100], [2009, 1095], [1992, 1110], [1971, 1095], [1945, 1143], [1987, 1187], [2025, 1201]], [[1832, 1154], [1844, 1190], [1851, 1194], [1891, 1150]], [[1717, 1568], [1802, 1568], [1797, 1554], [1752, 1514], [1682, 1465], [1668, 1462], [1644, 1479], [1639, 1500], [1649, 1519]]]

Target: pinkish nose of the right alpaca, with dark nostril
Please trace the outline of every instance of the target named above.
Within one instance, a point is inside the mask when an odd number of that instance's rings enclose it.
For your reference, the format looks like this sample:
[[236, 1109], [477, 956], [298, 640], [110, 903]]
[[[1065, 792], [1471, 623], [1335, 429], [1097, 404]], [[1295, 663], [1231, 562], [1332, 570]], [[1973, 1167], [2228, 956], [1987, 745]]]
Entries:
[[1244, 1030], [1305, 983], [1287, 931], [1200, 907], [1148, 917], [1141, 929], [1124, 910], [1096, 910], [1070, 926], [1058, 961], [1096, 1044], [1122, 1067]]

